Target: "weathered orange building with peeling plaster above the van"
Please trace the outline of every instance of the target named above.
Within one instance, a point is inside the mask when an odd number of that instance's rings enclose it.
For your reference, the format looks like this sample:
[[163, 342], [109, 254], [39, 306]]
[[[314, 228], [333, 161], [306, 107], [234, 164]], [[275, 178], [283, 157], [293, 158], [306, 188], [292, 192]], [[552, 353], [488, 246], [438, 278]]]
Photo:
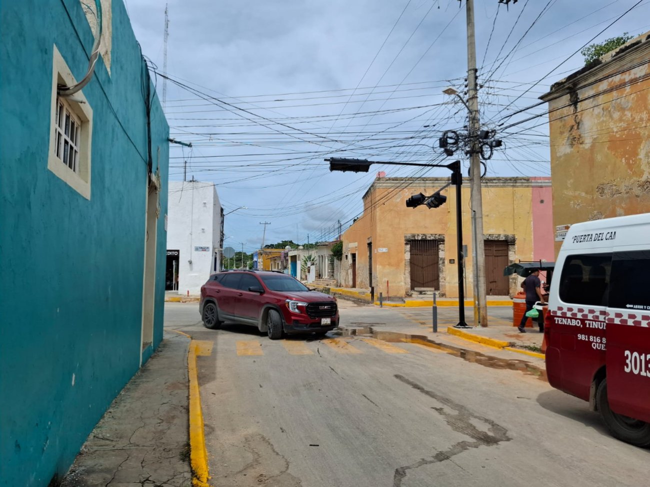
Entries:
[[554, 225], [650, 212], [649, 58], [646, 32], [541, 97], [549, 103]]

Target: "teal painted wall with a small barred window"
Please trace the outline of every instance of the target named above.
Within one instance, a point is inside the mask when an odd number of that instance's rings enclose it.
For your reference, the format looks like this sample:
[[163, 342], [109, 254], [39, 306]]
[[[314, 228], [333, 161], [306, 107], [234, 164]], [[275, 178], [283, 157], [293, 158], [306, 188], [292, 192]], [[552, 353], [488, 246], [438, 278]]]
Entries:
[[[112, 0], [111, 73], [100, 59], [83, 89], [88, 201], [47, 169], [53, 45], [79, 80], [93, 43], [79, 0], [0, 1], [0, 31], [0, 486], [47, 486], [140, 367], [147, 74]], [[164, 301], [168, 125], [157, 99], [151, 138], [162, 188], [145, 359], [162, 340]]]

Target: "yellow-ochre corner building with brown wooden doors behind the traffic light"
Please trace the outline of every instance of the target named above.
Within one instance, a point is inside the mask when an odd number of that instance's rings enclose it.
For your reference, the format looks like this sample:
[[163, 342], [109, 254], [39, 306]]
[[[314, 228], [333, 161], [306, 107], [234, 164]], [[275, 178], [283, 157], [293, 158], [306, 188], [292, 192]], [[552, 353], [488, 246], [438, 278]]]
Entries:
[[[341, 286], [404, 297], [435, 290], [458, 297], [456, 190], [441, 192], [439, 208], [407, 208], [406, 199], [430, 195], [448, 178], [377, 178], [363, 195], [363, 215], [343, 234]], [[551, 180], [486, 177], [482, 183], [487, 292], [513, 295], [518, 278], [503, 269], [518, 260], [553, 260]], [[472, 295], [473, 260], [469, 181], [461, 193], [466, 296]]]

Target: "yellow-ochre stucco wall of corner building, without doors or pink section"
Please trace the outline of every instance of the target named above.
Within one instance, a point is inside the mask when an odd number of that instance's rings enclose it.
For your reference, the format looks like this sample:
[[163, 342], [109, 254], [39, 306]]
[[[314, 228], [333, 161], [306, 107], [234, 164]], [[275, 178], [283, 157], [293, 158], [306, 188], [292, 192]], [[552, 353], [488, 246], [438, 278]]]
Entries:
[[[375, 292], [404, 296], [410, 292], [409, 245], [410, 238], [435, 238], [439, 242], [439, 291], [448, 297], [458, 296], [458, 271], [456, 262], [456, 190], [450, 188], [442, 194], [447, 202], [439, 208], [428, 209], [422, 205], [407, 208], [406, 199], [422, 192], [432, 194], [446, 184], [445, 178], [417, 180], [376, 179], [364, 196], [365, 212], [343, 234], [345, 256], [341, 264], [340, 281], [344, 287], [352, 286], [350, 253], [357, 255], [357, 288], [368, 289], [367, 243], [372, 242], [372, 285]], [[533, 190], [541, 189], [544, 197], [550, 195], [550, 181], [539, 178], [488, 178], [484, 181], [484, 229], [487, 240], [513, 240], [510, 261], [532, 260], [534, 245], [552, 247], [551, 205], [549, 201], [536, 203], [533, 211]], [[465, 262], [467, 291], [471, 296], [473, 259], [471, 242], [471, 211], [469, 209], [469, 181], [462, 190], [463, 243], [469, 256]], [[533, 239], [534, 218], [540, 219], [543, 231]], [[535, 223], [535, 224], [534, 224]], [[548, 227], [548, 228], [547, 228]], [[454, 260], [451, 263], [450, 260]], [[517, 282], [511, 282], [511, 292]]]

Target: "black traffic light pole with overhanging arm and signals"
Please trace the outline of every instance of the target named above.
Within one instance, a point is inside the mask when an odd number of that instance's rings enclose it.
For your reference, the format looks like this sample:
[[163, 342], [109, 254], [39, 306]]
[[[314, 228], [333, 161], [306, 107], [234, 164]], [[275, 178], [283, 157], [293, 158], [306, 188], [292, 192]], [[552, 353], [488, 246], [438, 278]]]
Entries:
[[[367, 173], [371, 164], [388, 164], [392, 166], [424, 166], [427, 168], [447, 168], [452, 171], [451, 181], [445, 184], [442, 188], [437, 190], [434, 194], [430, 196], [423, 195], [419, 193], [417, 195], [411, 196], [406, 200], [406, 206], [408, 208], [417, 208], [420, 205], [426, 205], [428, 208], [437, 208], [440, 205], [443, 205], [447, 201], [445, 195], [441, 195], [440, 192], [454, 184], [456, 186], [456, 251], [458, 252], [458, 259], [456, 260], [458, 264], [458, 323], [454, 325], [455, 328], [471, 328], [465, 322], [465, 288], [463, 286], [463, 216], [462, 216], [462, 206], [460, 201], [460, 192], [461, 184], [463, 184], [463, 175], [460, 171], [460, 160], [451, 162], [450, 164], [417, 164], [415, 162], [378, 162], [370, 161], [365, 159], [346, 159], [339, 157], [331, 157], [325, 159], [326, 162], [330, 163], [330, 171], [352, 171], [355, 173], [364, 172]], [[372, 282], [370, 282], [372, 285]], [[434, 325], [437, 331], [437, 325]]]

